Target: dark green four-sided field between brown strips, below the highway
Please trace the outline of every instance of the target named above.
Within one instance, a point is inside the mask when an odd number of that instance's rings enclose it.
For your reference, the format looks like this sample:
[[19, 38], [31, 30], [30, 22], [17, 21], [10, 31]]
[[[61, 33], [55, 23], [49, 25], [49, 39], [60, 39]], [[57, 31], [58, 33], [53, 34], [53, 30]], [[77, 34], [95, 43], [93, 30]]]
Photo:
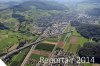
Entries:
[[55, 47], [55, 45], [52, 45], [52, 44], [41, 43], [41, 44], [38, 44], [35, 49], [36, 50], [52, 51], [54, 47]]

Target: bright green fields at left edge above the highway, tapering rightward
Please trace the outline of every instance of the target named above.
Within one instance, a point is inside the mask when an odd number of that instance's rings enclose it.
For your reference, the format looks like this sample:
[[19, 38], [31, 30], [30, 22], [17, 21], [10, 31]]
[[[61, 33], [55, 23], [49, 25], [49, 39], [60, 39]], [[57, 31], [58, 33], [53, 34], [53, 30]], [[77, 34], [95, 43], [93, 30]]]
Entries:
[[[36, 40], [38, 36], [31, 36], [31, 41]], [[0, 30], [0, 51], [8, 50], [15, 44], [19, 44], [25, 40], [30, 40], [30, 36], [23, 35], [18, 32]]]

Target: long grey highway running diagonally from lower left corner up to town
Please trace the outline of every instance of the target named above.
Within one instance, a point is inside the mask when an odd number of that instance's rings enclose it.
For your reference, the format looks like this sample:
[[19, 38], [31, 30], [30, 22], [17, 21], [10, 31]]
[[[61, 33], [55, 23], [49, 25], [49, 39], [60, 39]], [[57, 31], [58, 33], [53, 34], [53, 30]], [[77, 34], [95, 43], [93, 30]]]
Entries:
[[19, 49], [15, 49], [15, 50], [13, 50], [13, 51], [7, 53], [6, 55], [0, 57], [0, 59], [2, 59], [3, 61], [5, 61], [8, 57], [12, 56], [13, 54], [15, 54], [15, 53], [17, 53], [17, 52], [19, 52], [19, 51], [21, 51], [21, 50], [23, 50], [23, 49], [25, 49], [25, 48], [27, 48], [27, 47], [30, 47], [30, 46], [39, 44], [41, 41], [43, 41], [43, 40], [45, 39], [44, 36], [45, 36], [46, 32], [48, 32], [49, 29], [50, 29], [50, 27], [48, 27], [48, 28], [43, 32], [43, 34], [42, 34], [35, 42], [33, 42], [33, 43], [31, 43], [31, 44], [26, 44], [25, 46], [23, 46], [23, 47], [21, 47], [21, 48], [19, 48]]

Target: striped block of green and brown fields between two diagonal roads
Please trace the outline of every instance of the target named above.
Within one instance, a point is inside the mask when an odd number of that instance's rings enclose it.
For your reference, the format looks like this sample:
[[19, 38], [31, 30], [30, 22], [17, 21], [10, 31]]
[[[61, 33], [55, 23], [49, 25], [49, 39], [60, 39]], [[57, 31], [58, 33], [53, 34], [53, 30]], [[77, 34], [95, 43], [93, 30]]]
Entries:
[[[32, 54], [25, 66], [35, 66], [40, 60], [40, 57], [47, 58], [50, 56], [54, 47], [56, 46], [55, 44], [50, 44], [50, 43], [55, 43], [58, 41], [58, 39], [52, 40], [51, 38], [48, 38], [47, 40], [38, 44], [35, 47], [35, 49], [33, 49]], [[49, 42], [49, 43], [45, 43], [45, 42]]]

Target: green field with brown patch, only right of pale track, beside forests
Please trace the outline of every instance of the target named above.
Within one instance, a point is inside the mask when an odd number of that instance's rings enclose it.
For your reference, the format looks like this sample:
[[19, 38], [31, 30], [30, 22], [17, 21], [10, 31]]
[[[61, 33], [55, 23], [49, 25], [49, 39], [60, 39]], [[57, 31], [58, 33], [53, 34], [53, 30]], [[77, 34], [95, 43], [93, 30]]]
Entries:
[[79, 47], [83, 46], [85, 42], [88, 42], [87, 38], [81, 36], [75, 29], [72, 27], [72, 35], [70, 37], [70, 52], [76, 53]]

